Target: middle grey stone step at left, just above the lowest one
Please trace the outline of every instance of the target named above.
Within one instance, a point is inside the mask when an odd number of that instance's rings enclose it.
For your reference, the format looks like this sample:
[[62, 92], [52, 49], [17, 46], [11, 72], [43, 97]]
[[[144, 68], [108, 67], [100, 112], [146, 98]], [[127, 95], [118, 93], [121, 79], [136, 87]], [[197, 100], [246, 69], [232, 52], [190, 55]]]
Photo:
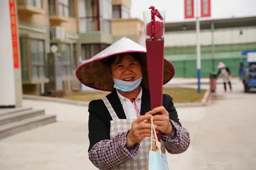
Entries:
[[7, 123], [20, 121], [22, 119], [26, 119], [33, 116], [39, 116], [43, 114], [44, 114], [44, 110], [25, 110], [25, 111], [19, 111], [15, 113], [0, 115], [0, 125], [5, 125]]

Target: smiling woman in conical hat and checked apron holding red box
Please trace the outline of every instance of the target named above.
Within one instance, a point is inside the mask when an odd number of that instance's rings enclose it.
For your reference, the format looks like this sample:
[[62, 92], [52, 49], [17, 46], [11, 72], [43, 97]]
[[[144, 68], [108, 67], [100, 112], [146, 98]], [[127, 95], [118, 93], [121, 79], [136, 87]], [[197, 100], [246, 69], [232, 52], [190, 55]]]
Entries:
[[[171, 96], [164, 94], [163, 106], [151, 111], [145, 54], [143, 46], [123, 37], [76, 70], [84, 85], [112, 91], [91, 101], [88, 109], [89, 159], [99, 169], [145, 168], [151, 116], [161, 133], [163, 153], [182, 153], [189, 146], [189, 133], [181, 127]], [[174, 73], [172, 63], [165, 60], [163, 84]]]

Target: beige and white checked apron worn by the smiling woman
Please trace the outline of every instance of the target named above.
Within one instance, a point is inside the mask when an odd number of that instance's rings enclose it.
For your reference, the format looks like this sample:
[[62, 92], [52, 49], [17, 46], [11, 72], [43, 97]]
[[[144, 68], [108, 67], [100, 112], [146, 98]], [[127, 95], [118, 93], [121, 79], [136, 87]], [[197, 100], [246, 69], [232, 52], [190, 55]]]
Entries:
[[[106, 97], [104, 97], [103, 102], [105, 103], [108, 111], [113, 120], [110, 121], [110, 138], [113, 139], [118, 133], [125, 132], [131, 129], [131, 124], [134, 119], [119, 119], [116, 115], [116, 112], [112, 108], [110, 102]], [[149, 151], [150, 137], [144, 138], [140, 142], [140, 147], [138, 153], [134, 158], [130, 159], [124, 164], [121, 164], [116, 170], [144, 170], [145, 165], [148, 163], [148, 151]], [[164, 144], [161, 141], [161, 150], [165, 153]]]

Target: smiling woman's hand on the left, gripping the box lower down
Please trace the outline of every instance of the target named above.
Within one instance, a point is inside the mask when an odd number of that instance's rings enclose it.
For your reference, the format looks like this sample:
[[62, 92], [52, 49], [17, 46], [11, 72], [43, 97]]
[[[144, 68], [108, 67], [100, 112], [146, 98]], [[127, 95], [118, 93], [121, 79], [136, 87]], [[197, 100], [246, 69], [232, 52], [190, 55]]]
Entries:
[[[132, 147], [134, 144], [140, 143], [145, 137], [151, 136], [151, 124], [145, 123], [145, 120], [150, 120], [151, 116], [151, 114], [143, 115], [132, 122], [131, 129], [126, 136], [128, 147]], [[157, 128], [156, 125], [155, 128]]]

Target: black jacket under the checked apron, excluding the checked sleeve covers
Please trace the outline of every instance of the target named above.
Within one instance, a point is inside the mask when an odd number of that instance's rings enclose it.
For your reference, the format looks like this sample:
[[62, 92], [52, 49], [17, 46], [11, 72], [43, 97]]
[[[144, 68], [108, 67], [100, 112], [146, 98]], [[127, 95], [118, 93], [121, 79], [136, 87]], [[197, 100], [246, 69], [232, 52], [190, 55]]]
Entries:
[[[118, 118], [126, 119], [125, 112], [122, 108], [122, 104], [119, 100], [116, 89], [114, 89], [106, 97], [111, 103]], [[163, 94], [163, 107], [165, 107], [166, 110], [169, 112], [169, 118], [181, 126], [171, 96]], [[150, 94], [147, 89], [143, 88], [140, 114], [144, 115], [150, 110]], [[88, 123], [90, 150], [93, 145], [98, 143], [99, 141], [110, 139], [110, 121], [112, 120], [112, 118], [102, 99], [91, 101], [89, 103], [88, 111], [90, 113]]]

